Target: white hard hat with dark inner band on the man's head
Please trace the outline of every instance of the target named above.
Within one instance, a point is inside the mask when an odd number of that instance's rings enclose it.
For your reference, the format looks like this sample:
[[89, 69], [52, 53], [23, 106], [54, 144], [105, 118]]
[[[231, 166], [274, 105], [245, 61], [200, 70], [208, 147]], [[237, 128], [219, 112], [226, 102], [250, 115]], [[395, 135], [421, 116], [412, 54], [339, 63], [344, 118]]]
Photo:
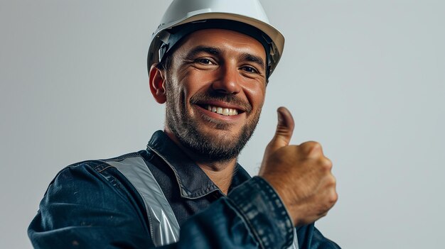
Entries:
[[284, 36], [269, 24], [259, 0], [173, 0], [152, 35], [149, 70], [183, 36], [203, 28], [231, 29], [259, 40], [268, 53], [268, 76], [282, 56]]

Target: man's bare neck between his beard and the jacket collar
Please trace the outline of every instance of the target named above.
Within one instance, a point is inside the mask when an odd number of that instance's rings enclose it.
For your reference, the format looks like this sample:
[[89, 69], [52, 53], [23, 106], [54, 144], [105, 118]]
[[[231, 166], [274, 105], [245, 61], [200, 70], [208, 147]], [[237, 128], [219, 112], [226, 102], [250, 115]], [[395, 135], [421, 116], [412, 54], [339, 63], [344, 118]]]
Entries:
[[233, 172], [235, 170], [235, 165], [237, 165], [237, 158], [232, 158], [223, 162], [204, 159], [179, 143], [176, 136], [169, 131], [168, 128], [165, 128], [164, 132], [174, 143], [176, 143], [176, 145], [179, 146], [179, 148], [181, 148], [181, 150], [183, 150], [184, 153], [191, 157], [196, 165], [205, 172], [205, 175], [207, 175], [210, 180], [220, 188], [221, 192], [227, 194], [230, 184], [232, 183]]

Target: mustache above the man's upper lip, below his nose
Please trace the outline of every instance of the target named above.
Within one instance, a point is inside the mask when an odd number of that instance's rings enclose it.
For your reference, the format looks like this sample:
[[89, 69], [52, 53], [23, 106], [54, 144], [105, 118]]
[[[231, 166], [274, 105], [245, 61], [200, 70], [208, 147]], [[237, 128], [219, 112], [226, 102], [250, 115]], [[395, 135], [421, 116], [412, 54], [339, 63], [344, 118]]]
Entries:
[[240, 106], [248, 114], [252, 111], [252, 106], [249, 102], [242, 100], [239, 96], [234, 94], [222, 94], [220, 92], [208, 91], [208, 92], [198, 92], [193, 94], [190, 99], [190, 104], [198, 104], [203, 101], [224, 101], [227, 104], [233, 104]]

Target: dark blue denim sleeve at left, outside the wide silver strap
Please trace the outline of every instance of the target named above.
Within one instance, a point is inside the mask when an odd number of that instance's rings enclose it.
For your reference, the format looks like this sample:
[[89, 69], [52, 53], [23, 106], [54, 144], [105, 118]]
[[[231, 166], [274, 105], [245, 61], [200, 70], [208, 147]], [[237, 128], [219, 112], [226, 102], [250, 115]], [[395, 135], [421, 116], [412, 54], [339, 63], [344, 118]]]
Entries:
[[59, 172], [28, 227], [34, 248], [149, 248], [136, 201], [116, 189], [86, 164]]

